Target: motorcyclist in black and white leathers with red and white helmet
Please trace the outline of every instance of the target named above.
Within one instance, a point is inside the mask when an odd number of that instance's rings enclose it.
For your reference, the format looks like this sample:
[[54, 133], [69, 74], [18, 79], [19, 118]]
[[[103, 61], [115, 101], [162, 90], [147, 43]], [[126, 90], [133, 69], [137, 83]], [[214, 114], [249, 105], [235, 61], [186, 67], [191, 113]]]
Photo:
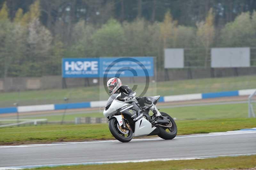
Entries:
[[[133, 97], [136, 96], [136, 92], [127, 85], [122, 85], [119, 78], [111, 78], [107, 82], [109, 93], [121, 93], [121, 98], [124, 98], [125, 102], [129, 102]], [[156, 118], [161, 116], [161, 113], [156, 108], [156, 105], [152, 103], [149, 97], [138, 97], [137, 98], [141, 107], [148, 106], [148, 108], [155, 114]]]

